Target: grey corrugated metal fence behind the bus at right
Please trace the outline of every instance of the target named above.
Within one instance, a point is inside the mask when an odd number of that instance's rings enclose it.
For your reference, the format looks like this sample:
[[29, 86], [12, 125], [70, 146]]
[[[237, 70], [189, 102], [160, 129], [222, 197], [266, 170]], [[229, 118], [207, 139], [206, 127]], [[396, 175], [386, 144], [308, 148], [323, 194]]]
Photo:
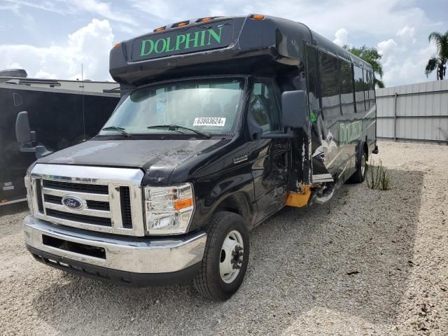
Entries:
[[448, 80], [386, 87], [377, 93], [377, 137], [448, 144]]

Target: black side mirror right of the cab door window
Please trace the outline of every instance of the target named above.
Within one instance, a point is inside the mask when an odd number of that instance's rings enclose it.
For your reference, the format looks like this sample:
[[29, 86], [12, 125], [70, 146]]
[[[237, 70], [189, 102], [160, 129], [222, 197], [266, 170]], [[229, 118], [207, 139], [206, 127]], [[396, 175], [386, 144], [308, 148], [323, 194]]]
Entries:
[[307, 122], [307, 94], [304, 91], [286, 91], [281, 94], [283, 127], [303, 128]]

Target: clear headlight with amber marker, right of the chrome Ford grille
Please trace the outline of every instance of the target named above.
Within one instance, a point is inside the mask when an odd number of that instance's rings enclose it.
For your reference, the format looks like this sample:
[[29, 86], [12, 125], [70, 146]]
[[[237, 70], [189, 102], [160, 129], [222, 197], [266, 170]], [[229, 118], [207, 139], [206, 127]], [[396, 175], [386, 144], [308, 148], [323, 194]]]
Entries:
[[190, 183], [172, 187], [145, 187], [146, 232], [149, 235], [185, 233], [195, 201]]

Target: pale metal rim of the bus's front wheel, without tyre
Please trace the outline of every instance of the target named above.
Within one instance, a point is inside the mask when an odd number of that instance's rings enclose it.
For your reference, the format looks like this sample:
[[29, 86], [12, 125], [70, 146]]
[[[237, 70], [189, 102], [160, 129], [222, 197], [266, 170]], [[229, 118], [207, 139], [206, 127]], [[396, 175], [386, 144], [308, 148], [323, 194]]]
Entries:
[[232, 230], [225, 236], [219, 260], [219, 273], [225, 283], [232, 283], [237, 279], [243, 258], [243, 237], [237, 230]]

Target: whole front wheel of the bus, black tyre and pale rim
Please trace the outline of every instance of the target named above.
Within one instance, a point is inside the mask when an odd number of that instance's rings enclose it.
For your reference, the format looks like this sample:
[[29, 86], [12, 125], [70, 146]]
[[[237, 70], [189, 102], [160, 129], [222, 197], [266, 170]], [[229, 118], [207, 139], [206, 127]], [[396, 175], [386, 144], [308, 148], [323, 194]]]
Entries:
[[241, 286], [249, 258], [248, 230], [244, 219], [220, 211], [211, 217], [202, 267], [193, 283], [212, 300], [228, 300]]

